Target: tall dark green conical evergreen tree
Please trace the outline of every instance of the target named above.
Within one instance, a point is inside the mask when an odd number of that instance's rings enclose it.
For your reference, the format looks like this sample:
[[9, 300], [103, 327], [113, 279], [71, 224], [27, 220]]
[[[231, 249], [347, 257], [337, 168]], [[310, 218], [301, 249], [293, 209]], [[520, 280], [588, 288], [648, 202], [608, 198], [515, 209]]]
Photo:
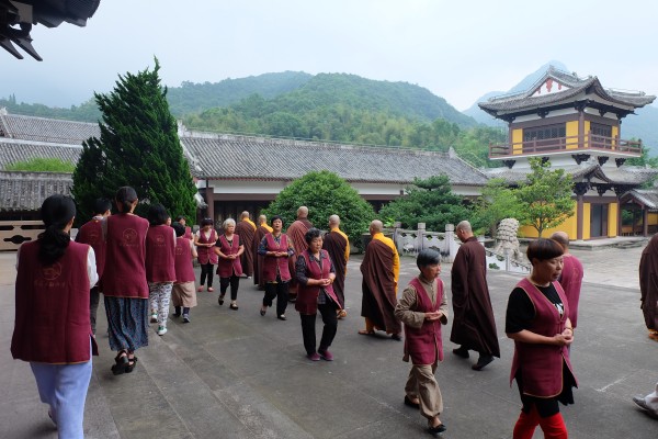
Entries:
[[71, 190], [80, 218], [89, 217], [90, 201], [112, 199], [122, 185], [135, 188], [145, 203], [161, 203], [171, 215], [195, 216], [196, 188], [155, 63], [152, 70], [120, 75], [109, 94], [94, 94], [102, 112], [101, 138], [82, 144]]

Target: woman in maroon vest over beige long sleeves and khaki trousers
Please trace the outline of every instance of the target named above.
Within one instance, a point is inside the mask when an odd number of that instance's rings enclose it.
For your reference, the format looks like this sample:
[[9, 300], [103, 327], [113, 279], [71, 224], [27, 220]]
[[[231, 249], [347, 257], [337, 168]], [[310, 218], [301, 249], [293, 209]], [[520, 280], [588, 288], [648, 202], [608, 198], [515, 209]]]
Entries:
[[420, 409], [428, 419], [428, 431], [436, 436], [445, 431], [439, 419], [443, 398], [434, 378], [439, 361], [443, 361], [441, 325], [447, 323], [447, 301], [443, 293], [441, 256], [421, 250], [416, 259], [420, 274], [409, 282], [395, 307], [395, 316], [405, 325], [404, 361], [411, 358], [411, 370], [405, 385], [405, 405]]

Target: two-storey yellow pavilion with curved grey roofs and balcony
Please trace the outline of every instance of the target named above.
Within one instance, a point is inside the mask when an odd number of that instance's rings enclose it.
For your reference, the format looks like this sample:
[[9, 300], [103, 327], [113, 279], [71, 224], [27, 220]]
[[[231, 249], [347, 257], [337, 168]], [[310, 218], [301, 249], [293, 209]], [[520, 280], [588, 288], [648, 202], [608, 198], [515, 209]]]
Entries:
[[[650, 206], [636, 203], [633, 191], [658, 171], [624, 165], [640, 157], [643, 147], [640, 140], [623, 139], [621, 127], [625, 116], [655, 99], [644, 92], [604, 89], [597, 77], [580, 78], [549, 67], [529, 90], [478, 103], [509, 126], [509, 142], [489, 147], [489, 159], [504, 164], [489, 171], [489, 177], [517, 184], [530, 172], [529, 159], [541, 157], [549, 160], [553, 169], [564, 169], [572, 177], [576, 200], [574, 215], [545, 230], [545, 236], [558, 229], [571, 239], [637, 232], [637, 215], [628, 219], [622, 206], [642, 212], [640, 229], [646, 235], [651, 225]], [[624, 227], [628, 222], [631, 229]], [[521, 232], [526, 237], [537, 236], [530, 226]]]

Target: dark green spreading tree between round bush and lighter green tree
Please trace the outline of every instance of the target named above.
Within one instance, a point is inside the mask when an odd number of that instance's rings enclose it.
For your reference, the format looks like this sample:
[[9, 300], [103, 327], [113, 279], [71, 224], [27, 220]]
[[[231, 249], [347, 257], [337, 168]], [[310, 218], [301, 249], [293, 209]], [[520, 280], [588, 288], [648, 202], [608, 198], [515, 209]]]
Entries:
[[446, 224], [457, 224], [470, 216], [464, 200], [452, 193], [446, 176], [415, 179], [406, 194], [382, 207], [382, 217], [394, 217], [402, 227], [415, 228], [426, 223], [428, 230], [441, 232]]

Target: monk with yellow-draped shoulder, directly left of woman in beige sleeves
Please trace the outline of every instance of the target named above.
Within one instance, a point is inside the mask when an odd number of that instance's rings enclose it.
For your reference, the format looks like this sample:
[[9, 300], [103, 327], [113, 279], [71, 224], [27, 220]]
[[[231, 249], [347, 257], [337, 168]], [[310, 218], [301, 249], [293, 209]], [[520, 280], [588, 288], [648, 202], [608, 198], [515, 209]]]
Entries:
[[400, 258], [393, 239], [384, 236], [384, 225], [375, 219], [370, 225], [372, 240], [365, 249], [361, 273], [363, 274], [361, 315], [365, 329], [361, 335], [374, 335], [375, 329], [385, 330], [394, 340], [401, 340], [400, 323], [395, 318]]

